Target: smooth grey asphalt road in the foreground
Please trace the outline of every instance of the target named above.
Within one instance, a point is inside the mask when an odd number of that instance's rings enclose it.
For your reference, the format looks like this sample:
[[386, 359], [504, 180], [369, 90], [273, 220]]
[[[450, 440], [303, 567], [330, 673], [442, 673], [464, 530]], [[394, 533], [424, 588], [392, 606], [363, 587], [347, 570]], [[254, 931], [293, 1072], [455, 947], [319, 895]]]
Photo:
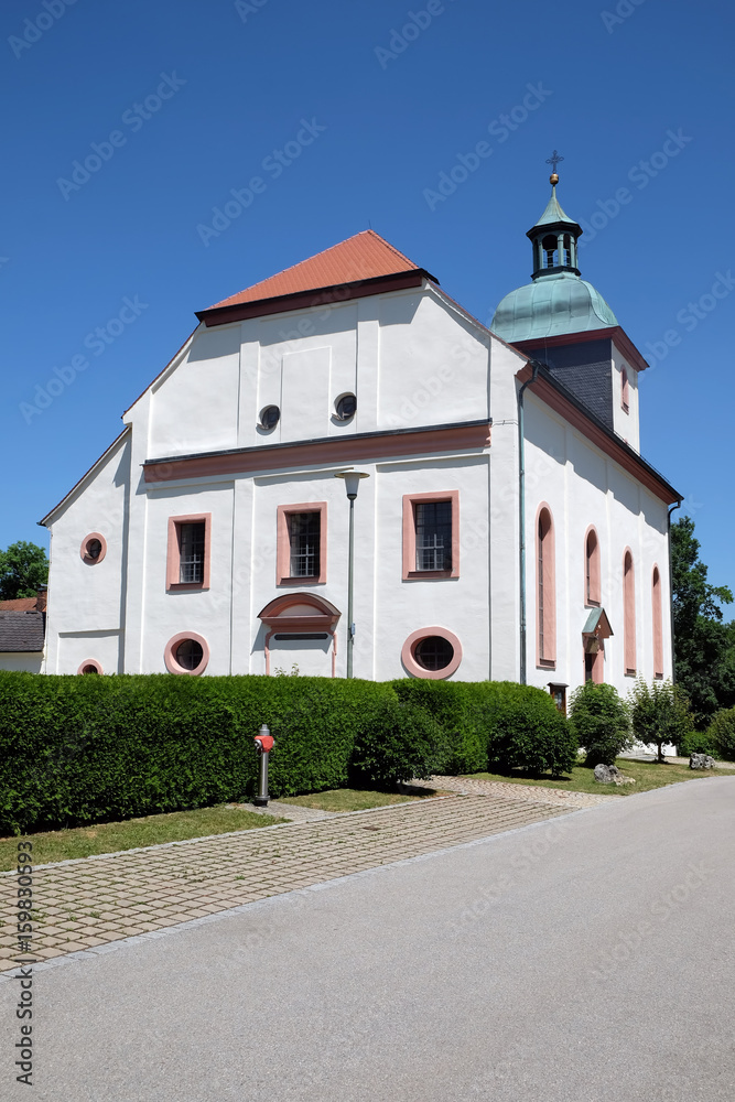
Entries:
[[48, 1102], [735, 1099], [735, 778], [39, 972]]

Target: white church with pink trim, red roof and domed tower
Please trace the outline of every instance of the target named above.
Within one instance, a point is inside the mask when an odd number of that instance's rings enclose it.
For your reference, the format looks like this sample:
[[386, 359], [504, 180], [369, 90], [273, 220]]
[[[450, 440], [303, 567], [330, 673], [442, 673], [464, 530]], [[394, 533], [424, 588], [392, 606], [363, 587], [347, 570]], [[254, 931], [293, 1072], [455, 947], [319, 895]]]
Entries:
[[45, 672], [671, 677], [680, 495], [550, 182], [489, 329], [372, 230], [198, 312], [41, 521]]

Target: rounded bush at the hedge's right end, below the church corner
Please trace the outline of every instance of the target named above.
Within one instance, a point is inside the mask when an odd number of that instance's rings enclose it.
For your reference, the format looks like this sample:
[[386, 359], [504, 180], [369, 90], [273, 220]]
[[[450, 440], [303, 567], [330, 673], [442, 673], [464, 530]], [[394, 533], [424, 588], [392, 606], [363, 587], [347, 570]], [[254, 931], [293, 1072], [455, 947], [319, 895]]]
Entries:
[[551, 773], [554, 777], [570, 773], [576, 763], [576, 734], [549, 693], [514, 681], [488, 681], [477, 688], [482, 690], [477, 702], [488, 730], [491, 769]]

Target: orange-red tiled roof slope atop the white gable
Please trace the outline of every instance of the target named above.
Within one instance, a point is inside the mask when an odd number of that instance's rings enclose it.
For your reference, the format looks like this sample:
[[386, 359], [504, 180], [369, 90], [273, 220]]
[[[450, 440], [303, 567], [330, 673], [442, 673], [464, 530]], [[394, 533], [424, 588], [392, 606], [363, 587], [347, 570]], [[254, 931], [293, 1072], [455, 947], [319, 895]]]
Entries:
[[309, 260], [302, 260], [300, 264], [287, 268], [277, 276], [261, 280], [260, 283], [253, 283], [239, 294], [216, 302], [209, 310], [275, 299], [284, 294], [317, 291], [342, 283], [380, 279], [382, 276], [420, 271], [423, 269], [394, 249], [379, 234], [364, 229], [361, 234], [355, 234], [346, 241], [341, 241], [324, 252], [317, 252]]

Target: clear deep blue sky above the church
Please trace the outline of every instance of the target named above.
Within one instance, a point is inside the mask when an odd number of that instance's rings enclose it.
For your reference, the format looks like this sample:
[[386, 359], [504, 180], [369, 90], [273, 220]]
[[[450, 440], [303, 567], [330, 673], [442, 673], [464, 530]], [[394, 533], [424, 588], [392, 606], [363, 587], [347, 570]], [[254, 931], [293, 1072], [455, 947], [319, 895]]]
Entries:
[[529, 280], [558, 149], [582, 274], [653, 365], [642, 453], [735, 588], [733, 23], [724, 0], [6, 0], [0, 547], [46, 542], [195, 310], [368, 226], [487, 322]]

